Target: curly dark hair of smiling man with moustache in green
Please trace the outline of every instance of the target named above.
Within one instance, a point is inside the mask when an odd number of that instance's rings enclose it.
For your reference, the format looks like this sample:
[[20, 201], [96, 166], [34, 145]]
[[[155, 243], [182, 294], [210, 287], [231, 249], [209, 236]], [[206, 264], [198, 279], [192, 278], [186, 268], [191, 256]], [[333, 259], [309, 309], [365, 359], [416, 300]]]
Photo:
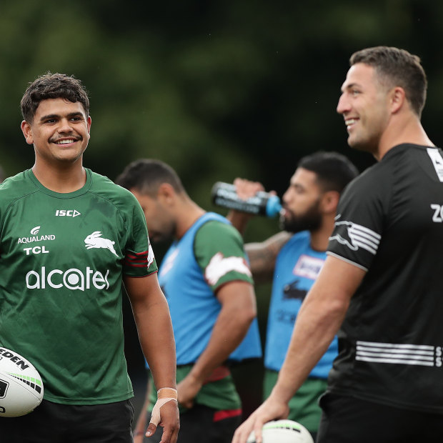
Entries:
[[89, 116], [88, 93], [79, 79], [66, 74], [46, 74], [29, 83], [20, 101], [21, 115], [28, 123], [32, 123], [36, 109], [46, 99], [66, 99], [72, 103], [79, 101], [86, 117]]

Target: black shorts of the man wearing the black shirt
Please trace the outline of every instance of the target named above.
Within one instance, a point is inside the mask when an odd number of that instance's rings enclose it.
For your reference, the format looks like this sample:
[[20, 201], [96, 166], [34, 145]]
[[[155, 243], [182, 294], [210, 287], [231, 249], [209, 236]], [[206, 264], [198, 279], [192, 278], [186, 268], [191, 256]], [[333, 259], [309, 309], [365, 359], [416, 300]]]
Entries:
[[399, 409], [354, 397], [325, 394], [317, 443], [424, 443], [443, 441], [443, 414]]

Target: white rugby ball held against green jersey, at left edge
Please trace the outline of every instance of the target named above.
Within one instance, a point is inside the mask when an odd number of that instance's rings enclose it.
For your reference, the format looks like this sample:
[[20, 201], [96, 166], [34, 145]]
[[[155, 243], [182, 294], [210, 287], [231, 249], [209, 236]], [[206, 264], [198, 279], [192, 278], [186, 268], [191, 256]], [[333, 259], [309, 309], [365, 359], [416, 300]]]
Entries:
[[20, 417], [43, 399], [37, 369], [20, 354], [0, 347], [0, 417]]

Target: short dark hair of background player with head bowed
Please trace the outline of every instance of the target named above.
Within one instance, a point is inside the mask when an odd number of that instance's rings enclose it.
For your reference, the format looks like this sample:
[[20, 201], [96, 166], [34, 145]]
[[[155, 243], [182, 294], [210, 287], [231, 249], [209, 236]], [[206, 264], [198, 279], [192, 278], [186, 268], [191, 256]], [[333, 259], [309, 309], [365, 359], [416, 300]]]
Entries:
[[126, 189], [136, 189], [152, 198], [156, 196], [162, 183], [169, 183], [179, 194], [184, 192], [183, 184], [181, 184], [176, 171], [169, 164], [160, 160], [138, 159], [132, 161], [116, 178], [116, 184]]

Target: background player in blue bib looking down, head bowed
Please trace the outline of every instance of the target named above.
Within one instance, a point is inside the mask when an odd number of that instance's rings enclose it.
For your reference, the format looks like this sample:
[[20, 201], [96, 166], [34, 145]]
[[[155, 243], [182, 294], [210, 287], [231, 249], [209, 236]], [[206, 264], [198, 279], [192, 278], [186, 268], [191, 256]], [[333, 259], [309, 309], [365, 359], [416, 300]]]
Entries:
[[[179, 442], [230, 442], [242, 409], [227, 362], [261, 357], [242, 237], [223, 216], [192, 201], [174, 169], [161, 161], [134, 161], [116, 182], [139, 200], [151, 241], [174, 240], [159, 282], [176, 340]], [[149, 410], [152, 400], [147, 399]], [[136, 443], [145, 420], [143, 409]], [[159, 436], [147, 441], [159, 442]]]

